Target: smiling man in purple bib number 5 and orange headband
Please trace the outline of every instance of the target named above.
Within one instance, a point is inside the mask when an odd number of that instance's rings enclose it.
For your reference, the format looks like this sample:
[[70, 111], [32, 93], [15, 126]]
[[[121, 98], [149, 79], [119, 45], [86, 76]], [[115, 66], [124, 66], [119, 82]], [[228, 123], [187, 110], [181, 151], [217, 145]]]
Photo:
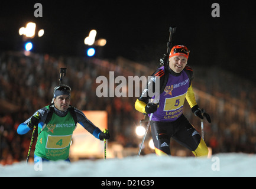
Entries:
[[[208, 148], [196, 129], [183, 115], [186, 99], [192, 112], [203, 119], [202, 110], [196, 103], [192, 88], [193, 70], [187, 66], [190, 51], [184, 45], [174, 46], [169, 55], [168, 67], [162, 66], [153, 73], [160, 77], [159, 103], [149, 103], [148, 89], [154, 89], [155, 83], [148, 82], [147, 87], [135, 102], [135, 109], [151, 115], [151, 135], [157, 155], [171, 155], [170, 139], [173, 138], [196, 157], [208, 155]], [[167, 77], [166, 77], [167, 76]], [[155, 96], [152, 97], [154, 99]], [[210, 116], [204, 113], [208, 122]]]

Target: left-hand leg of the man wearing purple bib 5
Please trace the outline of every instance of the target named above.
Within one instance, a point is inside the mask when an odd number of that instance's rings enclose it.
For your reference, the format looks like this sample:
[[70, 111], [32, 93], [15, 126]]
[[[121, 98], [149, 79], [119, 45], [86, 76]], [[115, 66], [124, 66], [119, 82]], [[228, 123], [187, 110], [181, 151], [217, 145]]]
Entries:
[[155, 146], [155, 154], [171, 155], [170, 135], [168, 135], [168, 122], [151, 121], [151, 135]]

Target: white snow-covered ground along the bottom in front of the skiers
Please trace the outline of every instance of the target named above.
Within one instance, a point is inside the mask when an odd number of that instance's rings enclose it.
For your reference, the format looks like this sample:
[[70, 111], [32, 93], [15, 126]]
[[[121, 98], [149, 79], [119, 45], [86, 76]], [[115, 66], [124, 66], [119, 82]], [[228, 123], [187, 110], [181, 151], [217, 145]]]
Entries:
[[25, 165], [25, 162], [19, 162], [0, 166], [0, 177], [256, 177], [256, 155], [215, 154], [207, 159], [150, 154], [71, 164]]

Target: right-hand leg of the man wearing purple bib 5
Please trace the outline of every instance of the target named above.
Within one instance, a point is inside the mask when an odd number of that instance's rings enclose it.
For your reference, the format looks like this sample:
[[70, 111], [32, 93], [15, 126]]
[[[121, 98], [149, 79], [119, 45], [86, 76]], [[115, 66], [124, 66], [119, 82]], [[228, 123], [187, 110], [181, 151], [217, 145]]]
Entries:
[[190, 149], [195, 157], [205, 157], [208, 155], [208, 147], [196, 129], [189, 123], [184, 115], [179, 118], [179, 126], [173, 138]]

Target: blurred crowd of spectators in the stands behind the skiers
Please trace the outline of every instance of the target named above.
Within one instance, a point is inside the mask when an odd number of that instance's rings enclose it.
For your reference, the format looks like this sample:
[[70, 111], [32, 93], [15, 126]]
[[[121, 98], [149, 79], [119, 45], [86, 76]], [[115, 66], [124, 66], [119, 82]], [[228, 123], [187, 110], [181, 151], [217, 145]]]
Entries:
[[[59, 69], [67, 67], [63, 83], [72, 88], [71, 104], [80, 110], [106, 110], [110, 141], [138, 147], [135, 127], [143, 115], [134, 109], [137, 97], [98, 97], [98, 76], [150, 76], [158, 65], [145, 67], [124, 58], [109, 62], [96, 58], [25, 56], [22, 52], [0, 54], [0, 164], [24, 161], [31, 132], [17, 134], [17, 127], [41, 107], [51, 103], [59, 84]], [[219, 152], [256, 152], [256, 87], [248, 80], [212, 68], [193, 68], [193, 88], [199, 107], [206, 109], [212, 123], [205, 121], [205, 141]], [[113, 90], [113, 89], [109, 89]], [[200, 131], [200, 119], [184, 105], [184, 115]], [[200, 133], [200, 132], [199, 132]], [[34, 142], [35, 145], [35, 142]], [[173, 144], [175, 148], [178, 144]], [[179, 145], [177, 148], [181, 148]]]

